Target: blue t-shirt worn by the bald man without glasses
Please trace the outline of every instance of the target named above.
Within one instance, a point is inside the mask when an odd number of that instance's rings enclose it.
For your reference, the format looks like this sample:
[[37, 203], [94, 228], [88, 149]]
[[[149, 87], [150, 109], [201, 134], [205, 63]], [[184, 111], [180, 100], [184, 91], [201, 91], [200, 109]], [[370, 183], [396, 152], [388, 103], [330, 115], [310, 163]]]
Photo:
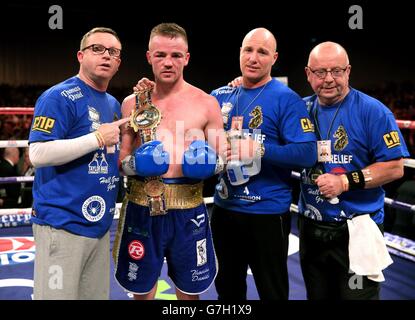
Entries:
[[[232, 117], [243, 116], [243, 132], [261, 143], [285, 145], [315, 141], [310, 128], [304, 126], [309, 116], [304, 101], [276, 79], [264, 86], [247, 89], [221, 87], [213, 95], [222, 109], [225, 130]], [[234, 186], [226, 173], [220, 177], [221, 190], [215, 192], [215, 204], [251, 214], [282, 214], [289, 210], [291, 169], [278, 167], [264, 159], [259, 174], [245, 184]]]

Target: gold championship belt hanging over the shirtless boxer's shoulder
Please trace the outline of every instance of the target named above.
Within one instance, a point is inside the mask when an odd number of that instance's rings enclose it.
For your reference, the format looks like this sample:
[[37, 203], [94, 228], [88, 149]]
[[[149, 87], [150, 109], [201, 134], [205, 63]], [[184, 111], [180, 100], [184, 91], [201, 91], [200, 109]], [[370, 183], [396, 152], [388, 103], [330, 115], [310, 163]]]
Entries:
[[[151, 90], [135, 92], [135, 109], [131, 112], [130, 126], [138, 132], [141, 144], [156, 139], [156, 129], [161, 121], [161, 112], [151, 102]], [[147, 195], [150, 216], [167, 213], [165, 186], [160, 176], [144, 179], [144, 192]]]

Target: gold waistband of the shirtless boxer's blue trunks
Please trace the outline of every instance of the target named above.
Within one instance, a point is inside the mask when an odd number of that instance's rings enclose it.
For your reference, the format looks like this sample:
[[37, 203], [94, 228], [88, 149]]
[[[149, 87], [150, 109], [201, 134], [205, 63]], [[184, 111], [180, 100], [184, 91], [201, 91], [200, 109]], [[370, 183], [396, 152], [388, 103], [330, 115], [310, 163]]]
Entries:
[[[140, 206], [148, 207], [144, 181], [133, 180], [127, 199]], [[191, 209], [203, 203], [203, 182], [195, 184], [164, 184], [167, 209]]]

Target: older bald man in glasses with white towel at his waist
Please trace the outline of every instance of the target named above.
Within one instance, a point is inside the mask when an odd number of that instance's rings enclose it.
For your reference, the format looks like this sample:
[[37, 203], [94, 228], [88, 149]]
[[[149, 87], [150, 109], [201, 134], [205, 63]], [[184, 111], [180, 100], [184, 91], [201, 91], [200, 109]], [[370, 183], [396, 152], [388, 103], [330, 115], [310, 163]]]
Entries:
[[300, 257], [308, 299], [379, 299], [392, 261], [382, 233], [381, 186], [403, 175], [409, 153], [392, 112], [349, 87], [346, 50], [324, 42], [305, 68], [305, 98], [318, 163], [304, 170], [299, 201]]

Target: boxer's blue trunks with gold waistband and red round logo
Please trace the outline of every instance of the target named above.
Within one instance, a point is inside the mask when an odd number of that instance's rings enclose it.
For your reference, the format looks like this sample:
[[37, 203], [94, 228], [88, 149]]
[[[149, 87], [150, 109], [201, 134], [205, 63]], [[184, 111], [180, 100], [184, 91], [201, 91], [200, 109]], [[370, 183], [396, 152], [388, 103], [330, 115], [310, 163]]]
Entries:
[[201, 182], [163, 179], [168, 213], [150, 216], [144, 182], [135, 180], [121, 210], [114, 243], [115, 278], [127, 291], [146, 294], [156, 284], [164, 258], [176, 288], [200, 294], [213, 283], [216, 256]]

